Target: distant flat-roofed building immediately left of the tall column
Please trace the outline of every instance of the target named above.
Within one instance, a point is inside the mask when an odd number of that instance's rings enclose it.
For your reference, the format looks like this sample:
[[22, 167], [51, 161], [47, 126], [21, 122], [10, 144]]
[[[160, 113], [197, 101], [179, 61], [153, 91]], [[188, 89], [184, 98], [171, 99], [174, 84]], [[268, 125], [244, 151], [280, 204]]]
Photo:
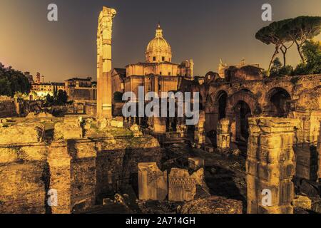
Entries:
[[65, 81], [65, 89], [69, 100], [96, 100], [97, 83], [91, 77], [71, 78]]

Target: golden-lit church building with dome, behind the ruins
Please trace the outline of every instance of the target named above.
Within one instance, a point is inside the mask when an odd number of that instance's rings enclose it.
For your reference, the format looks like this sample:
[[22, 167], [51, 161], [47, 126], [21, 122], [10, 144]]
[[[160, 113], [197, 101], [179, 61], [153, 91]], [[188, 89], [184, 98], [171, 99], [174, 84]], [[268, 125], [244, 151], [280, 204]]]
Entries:
[[126, 68], [115, 68], [112, 73], [113, 94], [133, 92], [138, 97], [138, 87], [145, 93], [177, 91], [183, 78], [193, 80], [193, 60], [173, 63], [173, 52], [163, 37], [163, 29], [158, 25], [155, 38], [146, 48], [145, 61], [129, 64]]

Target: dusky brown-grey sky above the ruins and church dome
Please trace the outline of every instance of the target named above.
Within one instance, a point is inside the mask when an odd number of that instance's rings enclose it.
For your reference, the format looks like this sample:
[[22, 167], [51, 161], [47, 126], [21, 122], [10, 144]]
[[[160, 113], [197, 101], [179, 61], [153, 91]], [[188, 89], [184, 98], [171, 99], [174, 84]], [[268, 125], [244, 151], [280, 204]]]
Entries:
[[[47, 21], [47, 6], [58, 5], [58, 22]], [[193, 58], [195, 75], [217, 71], [220, 58], [267, 67], [273, 47], [255, 40], [261, 6], [272, 4], [273, 21], [320, 16], [320, 0], [0, 0], [0, 62], [37, 71], [45, 81], [72, 76], [96, 78], [96, 28], [103, 6], [118, 14], [113, 24], [113, 67], [144, 61], [161, 21], [173, 62]], [[320, 36], [317, 37], [320, 39]], [[288, 63], [299, 61], [295, 48]]]

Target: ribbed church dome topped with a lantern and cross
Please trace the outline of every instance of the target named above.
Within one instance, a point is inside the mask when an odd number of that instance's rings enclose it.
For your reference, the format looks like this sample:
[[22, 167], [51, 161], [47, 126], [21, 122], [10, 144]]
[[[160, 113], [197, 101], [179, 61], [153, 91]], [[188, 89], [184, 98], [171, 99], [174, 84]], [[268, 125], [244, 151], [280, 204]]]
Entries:
[[146, 62], [159, 63], [164, 61], [172, 61], [172, 49], [165, 38], [163, 38], [163, 29], [158, 24], [156, 36], [148, 43], [146, 48]]

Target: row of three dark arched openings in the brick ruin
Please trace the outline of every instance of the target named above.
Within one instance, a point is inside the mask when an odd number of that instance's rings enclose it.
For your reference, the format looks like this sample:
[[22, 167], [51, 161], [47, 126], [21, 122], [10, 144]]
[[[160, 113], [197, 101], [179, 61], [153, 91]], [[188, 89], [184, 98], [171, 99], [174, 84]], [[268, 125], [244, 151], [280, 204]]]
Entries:
[[[235, 142], [241, 150], [246, 150], [249, 138], [248, 118], [261, 114], [286, 118], [289, 114], [291, 100], [291, 95], [284, 88], [272, 88], [266, 93], [265, 105], [260, 104], [258, 98], [248, 89], [240, 90], [233, 95], [228, 95], [225, 90], [219, 90], [215, 95], [210, 95], [207, 100], [207, 108], [211, 108], [214, 113], [214, 115], [208, 115], [208, 118], [216, 118], [208, 122], [216, 125], [223, 118], [235, 120], [233, 129]], [[216, 126], [213, 128], [216, 130]]]

